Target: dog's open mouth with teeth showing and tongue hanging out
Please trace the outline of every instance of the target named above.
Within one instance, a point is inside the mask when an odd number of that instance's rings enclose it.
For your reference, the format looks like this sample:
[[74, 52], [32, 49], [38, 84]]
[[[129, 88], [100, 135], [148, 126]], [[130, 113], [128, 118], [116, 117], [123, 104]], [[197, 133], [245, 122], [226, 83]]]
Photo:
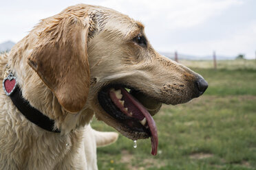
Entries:
[[160, 110], [160, 102], [138, 90], [117, 85], [100, 90], [98, 101], [107, 114], [125, 126], [130, 134], [128, 138], [136, 140], [151, 137], [151, 154], [157, 154], [158, 132], [152, 115]]

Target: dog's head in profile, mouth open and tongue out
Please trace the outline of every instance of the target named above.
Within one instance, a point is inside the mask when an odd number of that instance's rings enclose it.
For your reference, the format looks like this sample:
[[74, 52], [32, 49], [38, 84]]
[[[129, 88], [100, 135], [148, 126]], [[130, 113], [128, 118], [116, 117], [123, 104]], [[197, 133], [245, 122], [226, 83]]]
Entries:
[[[202, 76], [157, 53], [144, 26], [108, 8], [76, 5], [45, 19], [28, 63], [67, 112], [89, 108], [131, 139], [149, 138], [161, 104], [182, 104], [207, 88]], [[160, 30], [158, 30], [160, 31]]]

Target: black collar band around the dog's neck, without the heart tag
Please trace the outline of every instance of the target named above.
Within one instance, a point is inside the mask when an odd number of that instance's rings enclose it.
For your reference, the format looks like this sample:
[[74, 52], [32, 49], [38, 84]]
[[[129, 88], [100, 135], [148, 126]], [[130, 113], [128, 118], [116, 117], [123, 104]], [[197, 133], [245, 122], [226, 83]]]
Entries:
[[[16, 81], [16, 77], [15, 77]], [[3, 82], [4, 86], [4, 82]], [[59, 133], [59, 130], [54, 129], [54, 120], [46, 117], [36, 108], [33, 108], [27, 100], [25, 100], [21, 94], [21, 89], [18, 85], [15, 85], [12, 93], [9, 95], [12, 99], [13, 104], [18, 108], [18, 110], [32, 123], [38, 125], [44, 130], [50, 132]]]

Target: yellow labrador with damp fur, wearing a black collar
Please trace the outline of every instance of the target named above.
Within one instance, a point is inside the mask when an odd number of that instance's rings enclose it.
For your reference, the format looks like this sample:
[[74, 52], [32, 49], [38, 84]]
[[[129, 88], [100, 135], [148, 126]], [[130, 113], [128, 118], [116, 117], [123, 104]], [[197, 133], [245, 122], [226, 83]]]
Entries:
[[161, 104], [208, 86], [157, 53], [140, 22], [84, 4], [43, 19], [1, 55], [0, 74], [0, 169], [97, 169], [94, 114], [127, 138], [151, 138], [156, 155]]

